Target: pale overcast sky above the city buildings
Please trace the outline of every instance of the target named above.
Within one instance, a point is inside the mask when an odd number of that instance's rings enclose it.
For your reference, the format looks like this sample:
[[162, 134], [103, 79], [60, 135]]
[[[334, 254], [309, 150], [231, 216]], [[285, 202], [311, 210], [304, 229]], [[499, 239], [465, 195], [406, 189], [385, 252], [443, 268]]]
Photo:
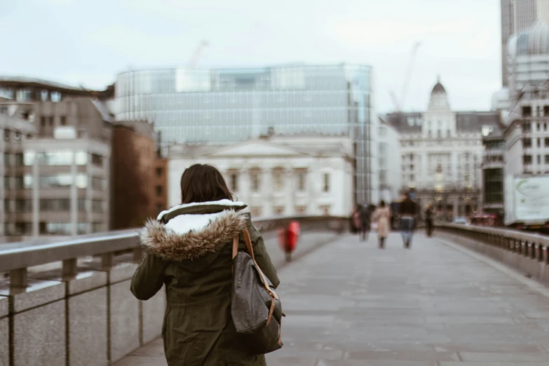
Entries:
[[[374, 67], [377, 111], [426, 109], [437, 75], [453, 109], [501, 87], [499, 0], [0, 0], [0, 74], [102, 89], [133, 67], [351, 62]], [[200, 5], [198, 5], [200, 4]]]

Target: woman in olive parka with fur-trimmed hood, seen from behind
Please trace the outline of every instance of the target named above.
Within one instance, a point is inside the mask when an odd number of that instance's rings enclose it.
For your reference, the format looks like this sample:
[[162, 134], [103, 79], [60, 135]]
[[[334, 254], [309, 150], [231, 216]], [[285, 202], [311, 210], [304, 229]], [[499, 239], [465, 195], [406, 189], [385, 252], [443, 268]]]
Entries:
[[143, 229], [147, 256], [135, 271], [132, 293], [147, 300], [165, 285], [162, 338], [169, 366], [264, 366], [264, 355], [248, 350], [231, 318], [232, 241], [239, 236], [238, 248], [245, 250], [243, 229], [250, 232], [257, 264], [278, 286], [263, 238], [212, 166], [187, 168], [181, 196], [181, 205]]

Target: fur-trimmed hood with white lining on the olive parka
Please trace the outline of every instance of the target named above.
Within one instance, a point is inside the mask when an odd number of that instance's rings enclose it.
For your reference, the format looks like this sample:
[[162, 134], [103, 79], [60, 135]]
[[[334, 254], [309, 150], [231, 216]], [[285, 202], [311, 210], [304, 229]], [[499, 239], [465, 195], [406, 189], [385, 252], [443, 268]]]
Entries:
[[150, 254], [169, 261], [198, 259], [232, 243], [249, 219], [240, 212], [244, 208], [244, 203], [229, 200], [177, 205], [147, 222], [141, 243]]

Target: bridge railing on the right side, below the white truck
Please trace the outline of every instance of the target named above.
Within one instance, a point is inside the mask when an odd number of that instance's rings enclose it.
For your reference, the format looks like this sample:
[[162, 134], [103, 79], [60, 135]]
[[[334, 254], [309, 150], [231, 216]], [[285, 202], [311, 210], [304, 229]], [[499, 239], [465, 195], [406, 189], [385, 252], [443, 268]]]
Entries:
[[549, 285], [549, 236], [464, 224], [440, 224], [435, 230]]

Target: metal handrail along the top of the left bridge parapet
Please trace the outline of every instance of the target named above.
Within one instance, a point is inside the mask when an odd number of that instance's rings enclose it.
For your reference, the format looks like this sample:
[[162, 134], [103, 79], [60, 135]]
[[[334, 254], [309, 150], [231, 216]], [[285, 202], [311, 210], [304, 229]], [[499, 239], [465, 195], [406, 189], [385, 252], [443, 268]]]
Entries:
[[[348, 217], [335, 216], [292, 216], [292, 217], [259, 217], [253, 222], [259, 230], [269, 231], [275, 226], [297, 220], [300, 222], [317, 222], [323, 220], [341, 220]], [[57, 243], [39, 244], [39, 240], [17, 243], [18, 248], [2, 250], [0, 245], [0, 272], [25, 269], [68, 259], [103, 255], [139, 248], [138, 240], [140, 229], [128, 229], [115, 233], [98, 233], [84, 237], [67, 238]], [[11, 247], [13, 245], [10, 245]]]

